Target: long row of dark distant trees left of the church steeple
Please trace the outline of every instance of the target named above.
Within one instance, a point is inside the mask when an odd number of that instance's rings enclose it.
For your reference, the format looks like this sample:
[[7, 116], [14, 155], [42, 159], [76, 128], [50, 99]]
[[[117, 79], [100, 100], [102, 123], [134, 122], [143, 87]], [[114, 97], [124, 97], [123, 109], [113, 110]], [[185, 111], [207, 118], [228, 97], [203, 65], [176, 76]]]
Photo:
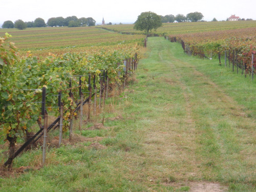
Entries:
[[2, 28], [17, 28], [17, 29], [26, 29], [33, 27], [82, 27], [82, 26], [95, 26], [96, 21], [92, 17], [81, 17], [77, 18], [76, 16], [63, 17], [51, 17], [48, 19], [48, 22], [45, 23], [45, 20], [38, 17], [32, 22], [24, 22], [22, 19], [16, 20], [14, 23], [11, 20], [6, 20]]

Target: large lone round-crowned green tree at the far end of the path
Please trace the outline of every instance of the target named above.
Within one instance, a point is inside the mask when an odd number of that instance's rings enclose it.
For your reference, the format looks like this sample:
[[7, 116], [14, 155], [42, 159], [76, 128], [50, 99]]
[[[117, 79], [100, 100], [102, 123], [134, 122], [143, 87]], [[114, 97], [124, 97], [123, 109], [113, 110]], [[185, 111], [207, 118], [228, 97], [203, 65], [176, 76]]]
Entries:
[[161, 22], [161, 16], [157, 15], [154, 12], [148, 11], [148, 12], [142, 12], [134, 25], [134, 29], [145, 31], [147, 34], [149, 31], [152, 31], [153, 29], [157, 29], [159, 27], [162, 27]]

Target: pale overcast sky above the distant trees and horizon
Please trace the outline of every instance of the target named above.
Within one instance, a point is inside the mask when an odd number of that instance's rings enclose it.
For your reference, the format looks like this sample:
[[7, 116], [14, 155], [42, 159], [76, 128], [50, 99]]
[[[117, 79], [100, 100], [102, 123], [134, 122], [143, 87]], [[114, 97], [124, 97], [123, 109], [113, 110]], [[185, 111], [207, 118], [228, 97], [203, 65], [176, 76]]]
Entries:
[[141, 12], [158, 15], [201, 12], [204, 20], [226, 20], [231, 14], [256, 20], [255, 0], [0, 0], [0, 24], [17, 19], [24, 22], [40, 17], [47, 23], [51, 17], [93, 17], [96, 24], [134, 23]]

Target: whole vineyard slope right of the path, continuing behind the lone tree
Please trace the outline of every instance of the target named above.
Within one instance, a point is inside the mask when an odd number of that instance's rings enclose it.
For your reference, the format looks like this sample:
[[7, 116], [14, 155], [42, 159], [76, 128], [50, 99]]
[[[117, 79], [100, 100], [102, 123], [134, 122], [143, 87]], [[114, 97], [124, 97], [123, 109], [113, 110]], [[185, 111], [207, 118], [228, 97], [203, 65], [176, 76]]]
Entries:
[[[138, 34], [133, 25], [104, 26], [104, 29], [124, 34]], [[242, 70], [245, 77], [255, 73], [256, 22], [196, 22], [170, 23], [152, 31], [151, 36], [165, 36], [172, 42], [180, 42], [189, 55], [200, 58], [219, 57], [220, 64]], [[222, 59], [222, 61], [221, 61]], [[224, 61], [225, 60], [225, 61]]]

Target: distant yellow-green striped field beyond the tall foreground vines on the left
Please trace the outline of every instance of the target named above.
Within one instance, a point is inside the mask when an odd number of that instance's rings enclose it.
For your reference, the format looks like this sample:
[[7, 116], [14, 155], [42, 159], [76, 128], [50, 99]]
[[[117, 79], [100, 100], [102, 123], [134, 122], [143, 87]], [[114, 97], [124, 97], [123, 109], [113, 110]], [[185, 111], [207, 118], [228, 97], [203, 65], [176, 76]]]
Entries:
[[11, 41], [15, 42], [21, 55], [31, 51], [35, 56], [48, 56], [49, 52], [94, 52], [104, 46], [127, 47], [134, 46], [136, 42], [142, 45], [144, 40], [144, 35], [123, 35], [95, 27], [0, 29], [0, 36], [6, 32], [12, 35]]

